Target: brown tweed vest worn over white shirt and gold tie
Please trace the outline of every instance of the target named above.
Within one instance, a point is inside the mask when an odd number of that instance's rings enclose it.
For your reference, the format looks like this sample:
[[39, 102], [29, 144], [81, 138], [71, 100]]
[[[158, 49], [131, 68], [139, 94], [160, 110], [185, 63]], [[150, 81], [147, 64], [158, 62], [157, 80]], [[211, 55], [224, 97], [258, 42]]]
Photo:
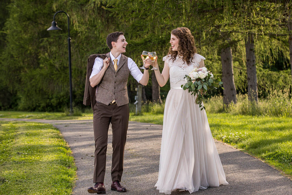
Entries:
[[[110, 57], [109, 53], [107, 57]], [[109, 105], [109, 103], [115, 100], [117, 106], [123, 106], [129, 103], [127, 91], [129, 73], [128, 57], [121, 54], [117, 72], [114, 70], [111, 59], [109, 67], [96, 88], [96, 101]]]

